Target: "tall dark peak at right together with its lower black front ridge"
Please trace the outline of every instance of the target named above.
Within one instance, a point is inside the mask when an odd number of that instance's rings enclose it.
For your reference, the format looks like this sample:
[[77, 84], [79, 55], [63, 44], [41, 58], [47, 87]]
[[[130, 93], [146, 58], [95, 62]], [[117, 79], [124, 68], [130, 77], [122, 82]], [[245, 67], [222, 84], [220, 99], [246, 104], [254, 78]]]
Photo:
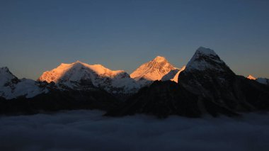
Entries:
[[237, 76], [213, 50], [199, 47], [179, 74], [178, 84], [154, 82], [107, 116], [236, 116], [256, 110], [269, 110], [268, 86]]

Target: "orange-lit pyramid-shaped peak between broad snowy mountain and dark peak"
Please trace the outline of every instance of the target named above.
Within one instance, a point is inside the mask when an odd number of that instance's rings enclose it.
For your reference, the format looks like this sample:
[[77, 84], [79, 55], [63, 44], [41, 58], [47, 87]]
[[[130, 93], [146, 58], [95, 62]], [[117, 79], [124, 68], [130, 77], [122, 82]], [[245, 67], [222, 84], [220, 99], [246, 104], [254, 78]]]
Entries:
[[135, 79], [140, 85], [146, 86], [155, 80], [161, 80], [171, 70], [176, 72], [177, 68], [173, 67], [165, 57], [157, 56], [154, 60], [138, 67], [135, 72], [130, 74], [130, 77]]

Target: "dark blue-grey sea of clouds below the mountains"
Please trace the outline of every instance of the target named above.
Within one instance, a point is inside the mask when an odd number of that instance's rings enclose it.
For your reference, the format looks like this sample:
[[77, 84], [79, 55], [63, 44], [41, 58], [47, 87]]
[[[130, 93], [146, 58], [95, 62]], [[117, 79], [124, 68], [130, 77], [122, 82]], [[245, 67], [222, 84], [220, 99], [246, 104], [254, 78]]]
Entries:
[[102, 114], [1, 116], [0, 150], [269, 150], [268, 114], [166, 119]]

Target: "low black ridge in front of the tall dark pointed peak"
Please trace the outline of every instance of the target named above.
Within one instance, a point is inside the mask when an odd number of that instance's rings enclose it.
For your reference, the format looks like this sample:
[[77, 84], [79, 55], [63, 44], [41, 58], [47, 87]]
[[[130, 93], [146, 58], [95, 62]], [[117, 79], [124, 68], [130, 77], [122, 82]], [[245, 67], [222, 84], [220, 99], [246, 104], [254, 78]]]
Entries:
[[[201, 104], [203, 108], [201, 108]], [[205, 112], [210, 113], [212, 116], [219, 114], [227, 116], [238, 115], [227, 108], [217, 106], [217, 104], [205, 98], [200, 98], [176, 82], [155, 81], [151, 86], [141, 89], [125, 104], [122, 104], [120, 108], [109, 111], [105, 116], [127, 116], [146, 113], [159, 118], [166, 118], [170, 115], [198, 118]]]

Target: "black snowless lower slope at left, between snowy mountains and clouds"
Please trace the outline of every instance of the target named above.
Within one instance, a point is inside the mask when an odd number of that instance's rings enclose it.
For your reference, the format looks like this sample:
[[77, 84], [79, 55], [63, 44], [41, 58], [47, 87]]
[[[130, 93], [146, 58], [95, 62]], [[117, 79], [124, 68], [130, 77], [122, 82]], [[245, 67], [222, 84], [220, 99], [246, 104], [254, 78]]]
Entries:
[[110, 111], [120, 104], [120, 101], [106, 91], [95, 89], [91, 91], [59, 91], [52, 90], [30, 99], [20, 97], [6, 100], [0, 98], [0, 114], [21, 115], [42, 112], [100, 109]]

